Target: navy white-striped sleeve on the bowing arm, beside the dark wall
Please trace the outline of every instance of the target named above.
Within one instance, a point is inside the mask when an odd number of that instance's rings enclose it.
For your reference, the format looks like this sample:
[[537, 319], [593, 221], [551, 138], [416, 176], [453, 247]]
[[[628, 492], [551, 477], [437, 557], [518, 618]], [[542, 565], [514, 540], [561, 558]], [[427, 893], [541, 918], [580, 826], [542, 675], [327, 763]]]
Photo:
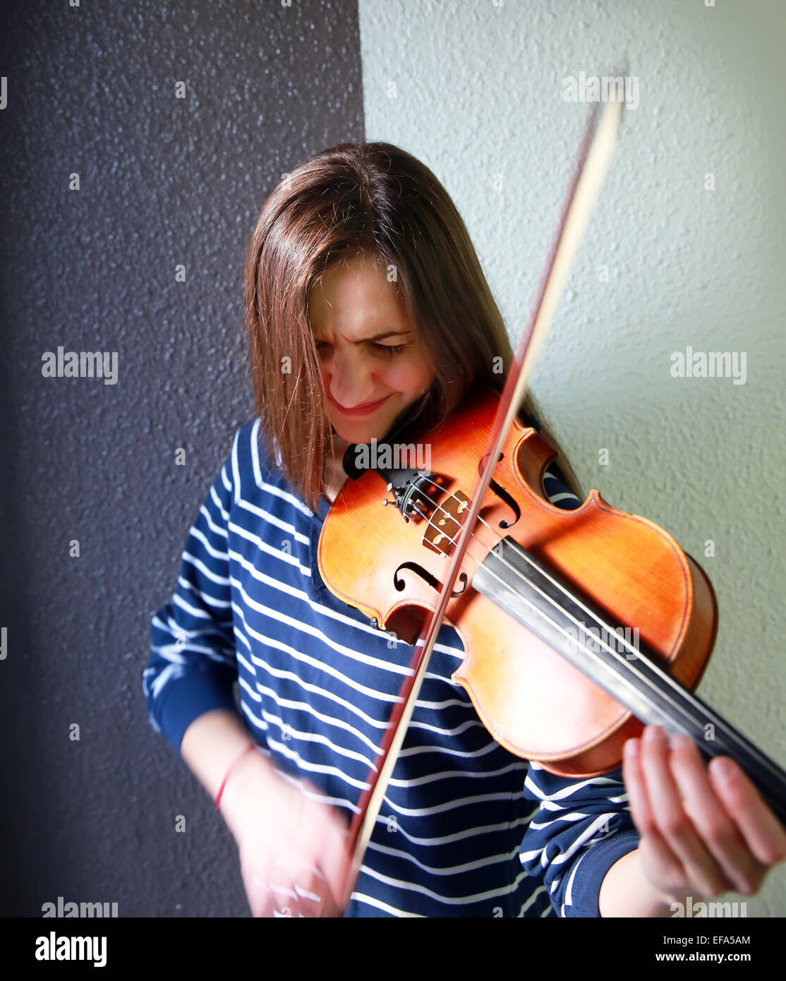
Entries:
[[153, 729], [180, 753], [190, 723], [214, 708], [236, 711], [237, 679], [229, 573], [233, 455], [222, 467], [185, 542], [178, 586], [150, 624], [142, 691]]

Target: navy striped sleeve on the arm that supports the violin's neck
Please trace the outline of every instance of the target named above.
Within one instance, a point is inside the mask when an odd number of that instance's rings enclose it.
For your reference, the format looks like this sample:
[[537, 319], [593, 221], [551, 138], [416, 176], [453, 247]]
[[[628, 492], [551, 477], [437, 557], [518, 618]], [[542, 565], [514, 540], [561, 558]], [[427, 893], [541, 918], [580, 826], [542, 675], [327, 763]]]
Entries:
[[[575, 510], [581, 501], [552, 464], [544, 490], [556, 507]], [[557, 777], [530, 760], [524, 798], [534, 805], [519, 857], [528, 875], [544, 884], [558, 916], [600, 916], [606, 872], [639, 846], [622, 767], [603, 777]]]

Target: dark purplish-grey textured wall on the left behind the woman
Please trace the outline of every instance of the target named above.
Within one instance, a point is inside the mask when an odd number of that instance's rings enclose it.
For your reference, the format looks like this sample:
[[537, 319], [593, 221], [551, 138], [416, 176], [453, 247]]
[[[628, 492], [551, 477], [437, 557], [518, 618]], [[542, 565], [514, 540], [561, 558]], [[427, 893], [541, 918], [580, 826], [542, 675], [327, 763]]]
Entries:
[[[284, 172], [363, 138], [356, 7], [6, 2], [0, 75], [0, 913], [63, 896], [249, 915], [232, 836], [153, 732], [141, 672], [253, 412], [256, 217]], [[59, 346], [117, 352], [117, 384], [43, 377]]]

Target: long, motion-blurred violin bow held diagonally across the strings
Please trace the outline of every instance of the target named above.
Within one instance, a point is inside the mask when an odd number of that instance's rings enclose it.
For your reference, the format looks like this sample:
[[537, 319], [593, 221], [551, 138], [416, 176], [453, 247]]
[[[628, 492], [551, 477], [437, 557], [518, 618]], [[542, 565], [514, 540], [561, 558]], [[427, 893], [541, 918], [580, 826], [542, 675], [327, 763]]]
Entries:
[[[609, 92], [609, 94], [611, 93]], [[380, 752], [369, 774], [369, 786], [363, 791], [358, 801], [358, 810], [349, 828], [348, 844], [351, 859], [347, 865], [346, 879], [341, 895], [341, 908], [344, 910], [351, 900], [363, 855], [368, 847], [382, 807], [385, 792], [393, 774], [393, 767], [404, 741], [415, 708], [415, 701], [420, 693], [423, 678], [431, 660], [432, 650], [437, 641], [437, 635], [443, 624], [447, 602], [453, 592], [453, 584], [469, 544], [471, 529], [475, 526], [481, 503], [492, 480], [496, 464], [490, 465], [487, 462], [484, 465], [483, 461], [498, 460], [499, 447], [506, 439], [513, 417], [516, 415], [526, 393], [530, 375], [546, 339], [576, 251], [587, 228], [608, 170], [616, 143], [622, 105], [621, 100], [611, 98], [606, 103], [603, 114], [599, 114], [596, 103], [593, 105], [587, 120], [567, 200], [562, 210], [559, 230], [551, 247], [535, 312], [528, 330], [519, 343], [519, 349], [510, 366], [499, 397], [497, 414], [486, 443], [486, 452], [481, 458], [482, 473], [478, 486], [469, 498], [472, 503], [466, 520], [458, 532], [455, 550], [445, 575], [437, 608], [434, 611], [428, 611], [427, 620], [415, 643], [415, 650], [409, 663], [410, 673], [401, 685], [398, 700], [393, 704], [393, 711]], [[423, 646], [419, 650], [418, 646], [421, 643]]]

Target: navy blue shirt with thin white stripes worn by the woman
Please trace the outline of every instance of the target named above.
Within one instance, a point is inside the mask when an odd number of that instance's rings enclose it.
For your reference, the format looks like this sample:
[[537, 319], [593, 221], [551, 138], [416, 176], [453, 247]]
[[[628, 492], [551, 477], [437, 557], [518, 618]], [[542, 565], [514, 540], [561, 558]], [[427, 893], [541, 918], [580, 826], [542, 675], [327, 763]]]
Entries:
[[[548, 471], [552, 503], [580, 506]], [[188, 534], [178, 587], [154, 615], [143, 692], [180, 752], [214, 708], [239, 708], [290, 782], [306, 778], [347, 825], [412, 648], [332, 594], [317, 567], [318, 514], [241, 426]], [[466, 691], [444, 624], [346, 916], [599, 916], [603, 877], [639, 835], [621, 768], [556, 777], [499, 746]]]

